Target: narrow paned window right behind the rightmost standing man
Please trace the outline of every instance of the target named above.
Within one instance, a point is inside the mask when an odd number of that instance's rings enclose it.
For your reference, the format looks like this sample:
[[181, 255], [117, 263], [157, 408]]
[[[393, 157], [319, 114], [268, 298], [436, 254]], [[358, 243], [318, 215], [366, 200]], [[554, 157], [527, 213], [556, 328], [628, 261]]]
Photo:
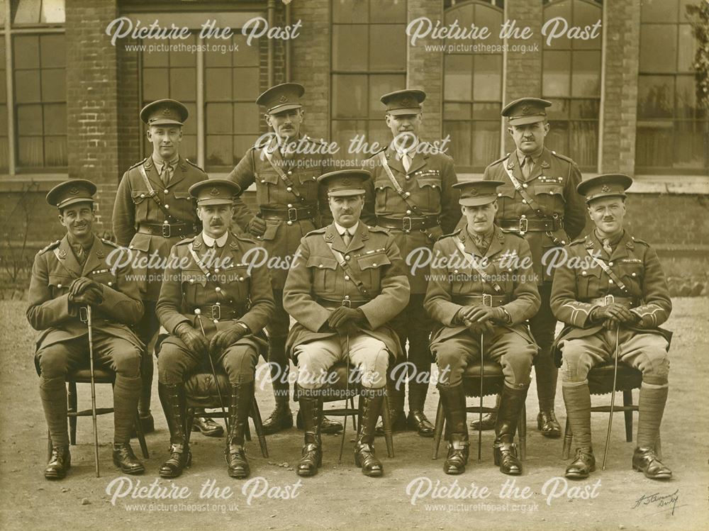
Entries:
[[[593, 26], [602, 18], [600, 0], [545, 0], [544, 20], [562, 17], [569, 26]], [[574, 159], [582, 170], [598, 169], [601, 104], [601, 35], [591, 40], [555, 38], [542, 51], [542, 98], [549, 135], [545, 144]]]

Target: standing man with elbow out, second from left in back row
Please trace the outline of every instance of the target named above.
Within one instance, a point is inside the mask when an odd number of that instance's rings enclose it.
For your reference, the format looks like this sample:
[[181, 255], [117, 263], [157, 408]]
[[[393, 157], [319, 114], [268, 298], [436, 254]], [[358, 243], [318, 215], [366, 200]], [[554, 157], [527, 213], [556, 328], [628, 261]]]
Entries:
[[[276, 408], [264, 420], [267, 435], [293, 426], [285, 350], [289, 316], [283, 309], [286, 275], [301, 237], [330, 220], [328, 199], [317, 180], [330, 169], [330, 157], [325, 142], [301, 133], [304, 92], [301, 84], [283, 83], [258, 97], [256, 104], [266, 108], [264, 118], [273, 133], [259, 138], [227, 177], [242, 190], [256, 183], [259, 211], [253, 213], [238, 199], [234, 220], [263, 245], [269, 260], [278, 262], [270, 271], [276, 313], [267, 327], [268, 361]], [[323, 432], [341, 429], [340, 423], [323, 421]]]

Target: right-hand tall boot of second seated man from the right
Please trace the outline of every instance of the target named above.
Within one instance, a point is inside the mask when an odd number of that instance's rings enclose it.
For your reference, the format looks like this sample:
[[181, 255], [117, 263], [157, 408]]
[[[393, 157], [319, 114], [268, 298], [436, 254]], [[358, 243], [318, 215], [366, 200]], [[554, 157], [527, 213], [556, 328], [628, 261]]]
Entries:
[[497, 412], [497, 423], [495, 425], [497, 437], [493, 447], [495, 464], [500, 467], [500, 471], [503, 474], [509, 474], [510, 476], [522, 474], [522, 464], [517, 457], [517, 447], [514, 441], [528, 389], [529, 385], [518, 389], [512, 389], [504, 385], [502, 397], [500, 398], [500, 408]]

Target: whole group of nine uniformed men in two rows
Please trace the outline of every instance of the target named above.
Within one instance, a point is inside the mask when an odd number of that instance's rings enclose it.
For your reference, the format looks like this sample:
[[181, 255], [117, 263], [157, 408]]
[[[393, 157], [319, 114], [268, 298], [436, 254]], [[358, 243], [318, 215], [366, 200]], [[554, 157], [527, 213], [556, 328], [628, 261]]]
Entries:
[[[62, 478], [70, 465], [65, 380], [86, 364], [86, 306], [95, 362], [116, 373], [113, 462], [126, 474], [144, 471], [129, 442], [135, 411], [143, 430], [154, 429], [147, 347], [155, 344], [170, 434], [162, 477], [191, 464], [184, 382], [206, 357], [231, 387], [228, 474], [250, 474], [243, 445], [259, 356], [270, 362], [276, 401], [267, 434], [293, 425], [289, 358], [298, 367], [301, 476], [318, 471], [321, 433], [342, 428], [323, 416], [322, 392], [328, 369], [346, 360], [361, 389], [354, 460], [364, 474], [383, 473], [374, 437], [385, 403], [394, 431], [432, 437], [423, 411], [432, 360], [447, 423], [443, 469], [461, 474], [469, 453], [462, 379], [481, 356], [501, 365], [505, 385], [495, 413], [472, 425], [495, 430], [503, 473], [522, 471], [513, 439], [532, 364], [540, 432], [561, 434], [558, 364], [576, 440], [566, 476], [593, 471], [587, 374], [617, 356], [643, 376], [632, 466], [649, 478], [671, 476], [655, 452], [669, 369], [670, 334], [659, 325], [671, 301], [657, 254], [623, 228], [632, 179], [604, 174], [582, 182], [572, 160], [544, 145], [550, 103], [525, 98], [502, 111], [516, 149], [490, 164], [483, 180], [457, 182], [452, 159], [420, 140], [426, 95], [409, 89], [381, 97], [391, 143], [364, 169], [330, 171], [324, 150], [302, 150], [320, 145], [301, 131], [303, 93], [286, 83], [259, 96], [274, 134], [226, 179], [208, 179], [179, 155], [182, 104], [145, 106], [140, 117], [153, 152], [118, 186], [115, 243], [92, 232], [94, 184], [72, 179], [50, 191], [67, 235], [35, 257], [27, 311], [42, 331], [35, 363], [52, 445], [45, 477]], [[252, 184], [255, 213], [240, 199]], [[587, 217], [593, 229], [579, 237]], [[574, 259], [550, 265], [562, 248]], [[281, 266], [252, 267], [247, 257], [258, 250]], [[412, 268], [422, 253], [430, 260]], [[566, 326], [554, 342], [557, 319]], [[405, 361], [408, 416], [398, 378]], [[196, 429], [222, 435], [205, 413]]]

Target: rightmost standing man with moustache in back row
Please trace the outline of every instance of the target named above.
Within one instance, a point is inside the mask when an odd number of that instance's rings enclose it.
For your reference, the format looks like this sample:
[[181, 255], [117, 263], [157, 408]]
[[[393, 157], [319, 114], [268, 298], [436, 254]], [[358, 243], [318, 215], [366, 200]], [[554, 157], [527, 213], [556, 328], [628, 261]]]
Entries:
[[[586, 216], [584, 202], [576, 194], [581, 182], [579, 167], [544, 145], [549, 133], [546, 108], [550, 105], [543, 99], [522, 98], [503, 108], [502, 116], [508, 118], [507, 130], [517, 149], [486, 167], [483, 178], [503, 181], [497, 194], [497, 223], [505, 232], [524, 236], [532, 250], [542, 298], [539, 312], [530, 319], [532, 336], [540, 347], [534, 362], [537, 428], [545, 437], [559, 437], [561, 427], [554, 414], [558, 371], [551, 354], [557, 321], [549, 308], [553, 269], [546, 267], [544, 257], [577, 237], [584, 230]], [[494, 414], [487, 415], [483, 429], [491, 429], [494, 420]], [[476, 422], [471, 425], [477, 427]]]

